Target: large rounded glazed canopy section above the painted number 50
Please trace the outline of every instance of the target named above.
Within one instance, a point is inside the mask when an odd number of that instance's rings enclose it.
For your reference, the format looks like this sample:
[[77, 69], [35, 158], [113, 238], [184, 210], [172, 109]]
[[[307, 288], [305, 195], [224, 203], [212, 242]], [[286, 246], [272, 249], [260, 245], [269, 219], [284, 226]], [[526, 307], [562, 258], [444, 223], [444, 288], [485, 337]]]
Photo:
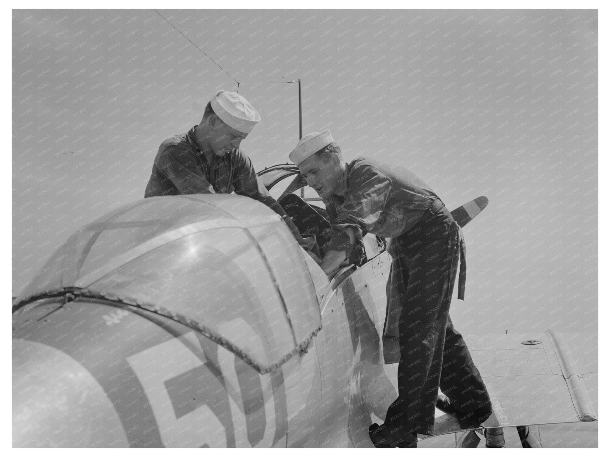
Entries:
[[152, 197], [104, 214], [70, 236], [15, 303], [61, 288], [179, 313], [261, 373], [321, 327], [301, 248], [248, 197]]

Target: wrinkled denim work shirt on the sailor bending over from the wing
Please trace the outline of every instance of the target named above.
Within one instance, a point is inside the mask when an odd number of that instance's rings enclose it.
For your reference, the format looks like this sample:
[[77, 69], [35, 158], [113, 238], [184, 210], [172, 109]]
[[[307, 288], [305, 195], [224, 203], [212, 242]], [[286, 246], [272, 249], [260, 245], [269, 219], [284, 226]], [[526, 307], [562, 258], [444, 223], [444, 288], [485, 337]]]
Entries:
[[438, 197], [413, 172], [371, 158], [346, 163], [339, 192], [323, 200], [332, 226], [328, 250], [354, 248], [367, 232], [384, 238], [406, 233]]

